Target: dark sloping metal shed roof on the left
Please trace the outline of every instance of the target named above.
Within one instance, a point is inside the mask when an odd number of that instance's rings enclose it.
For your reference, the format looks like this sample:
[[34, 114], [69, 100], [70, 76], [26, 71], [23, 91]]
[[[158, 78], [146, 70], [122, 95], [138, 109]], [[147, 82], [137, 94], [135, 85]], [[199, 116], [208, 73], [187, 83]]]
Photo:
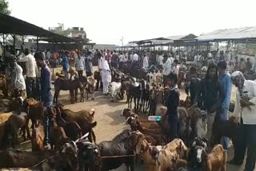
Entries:
[[31, 35], [52, 38], [57, 42], [73, 42], [72, 38], [54, 34], [53, 32], [44, 30], [39, 26], [35, 26], [18, 18], [11, 17], [10, 15], [0, 13], [0, 21], [0, 33], [2, 34]]

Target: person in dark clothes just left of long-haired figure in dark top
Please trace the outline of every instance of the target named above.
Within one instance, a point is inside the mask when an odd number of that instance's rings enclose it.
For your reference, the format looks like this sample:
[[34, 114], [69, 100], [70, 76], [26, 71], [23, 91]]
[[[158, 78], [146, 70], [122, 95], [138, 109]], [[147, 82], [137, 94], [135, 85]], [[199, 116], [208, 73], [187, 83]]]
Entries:
[[191, 104], [194, 104], [194, 98], [198, 94], [198, 87], [200, 85], [201, 79], [197, 76], [197, 69], [194, 66], [190, 68], [190, 78], [189, 81], [186, 82], [186, 94], [190, 93], [190, 101]]

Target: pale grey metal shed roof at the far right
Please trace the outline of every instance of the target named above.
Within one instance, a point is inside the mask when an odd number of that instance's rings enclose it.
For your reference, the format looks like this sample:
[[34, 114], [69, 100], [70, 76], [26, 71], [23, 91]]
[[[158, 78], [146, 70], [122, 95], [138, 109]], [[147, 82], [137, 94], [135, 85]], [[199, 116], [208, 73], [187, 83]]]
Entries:
[[225, 41], [225, 40], [239, 40], [239, 39], [255, 39], [256, 26], [242, 27], [234, 29], [214, 30], [207, 34], [202, 34], [198, 41]]

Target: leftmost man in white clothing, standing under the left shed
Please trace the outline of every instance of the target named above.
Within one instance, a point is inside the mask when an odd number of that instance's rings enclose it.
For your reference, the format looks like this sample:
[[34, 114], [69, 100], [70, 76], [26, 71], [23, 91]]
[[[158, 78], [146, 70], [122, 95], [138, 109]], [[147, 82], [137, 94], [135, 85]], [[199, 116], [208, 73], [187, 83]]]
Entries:
[[8, 89], [13, 93], [13, 97], [26, 99], [26, 83], [22, 75], [22, 67], [16, 62], [16, 57], [10, 54], [8, 66], [6, 67], [6, 81]]

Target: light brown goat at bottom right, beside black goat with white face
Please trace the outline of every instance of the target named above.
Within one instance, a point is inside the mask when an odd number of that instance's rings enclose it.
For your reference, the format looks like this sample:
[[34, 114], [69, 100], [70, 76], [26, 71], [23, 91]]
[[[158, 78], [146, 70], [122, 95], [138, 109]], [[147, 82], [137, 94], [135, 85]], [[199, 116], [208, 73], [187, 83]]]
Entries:
[[207, 156], [206, 171], [226, 171], [227, 153], [222, 145], [216, 145]]

